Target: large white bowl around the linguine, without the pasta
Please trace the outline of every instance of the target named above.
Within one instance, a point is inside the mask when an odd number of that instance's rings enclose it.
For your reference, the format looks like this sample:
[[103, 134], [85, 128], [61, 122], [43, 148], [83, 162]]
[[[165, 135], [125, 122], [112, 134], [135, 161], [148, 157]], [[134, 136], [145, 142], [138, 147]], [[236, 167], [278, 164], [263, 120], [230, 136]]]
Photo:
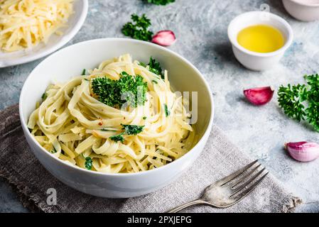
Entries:
[[[148, 172], [106, 174], [67, 165], [44, 150], [28, 131], [26, 123], [36, 101], [48, 84], [63, 82], [81, 74], [82, 69], [97, 67], [99, 62], [130, 53], [136, 60], [148, 62], [154, 57], [168, 70], [176, 91], [198, 92], [198, 122], [200, 140], [180, 159]], [[55, 177], [68, 186], [87, 194], [109, 198], [126, 198], [148, 194], [171, 183], [200, 155], [212, 128], [212, 92], [202, 74], [185, 58], [152, 43], [139, 40], [104, 38], [71, 45], [55, 52], [41, 62], [26, 79], [21, 91], [19, 111], [23, 132], [34, 155]], [[213, 152], [213, 151], [212, 151]]]

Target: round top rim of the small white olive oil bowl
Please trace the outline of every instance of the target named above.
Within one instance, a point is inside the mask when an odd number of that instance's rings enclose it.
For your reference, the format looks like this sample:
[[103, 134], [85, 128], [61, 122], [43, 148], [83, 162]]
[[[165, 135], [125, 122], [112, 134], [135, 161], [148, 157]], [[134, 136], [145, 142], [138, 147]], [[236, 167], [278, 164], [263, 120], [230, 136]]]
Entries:
[[[251, 51], [251, 50], [247, 50], [246, 48], [242, 47], [242, 45], [240, 45], [237, 41], [237, 35], [238, 33], [235, 35], [236, 38], [232, 38], [232, 36], [230, 35], [231, 31], [230, 29], [232, 28], [232, 24], [235, 22], [235, 21], [238, 21], [240, 20], [242, 17], [244, 16], [247, 16], [249, 14], [261, 14], [261, 13], [269, 13], [269, 15], [276, 19], [277, 21], [279, 21], [283, 26], [285, 26], [285, 28], [287, 29], [288, 31], [288, 38], [285, 42], [285, 45], [283, 45], [280, 49], [276, 50], [276, 51], [273, 51], [273, 52], [254, 52], [254, 51]], [[260, 24], [260, 23], [256, 23], [256, 24]], [[267, 24], [267, 22], [264, 22], [264, 24]], [[228, 26], [228, 29], [227, 29], [227, 34], [228, 34], [228, 39], [230, 41], [230, 43], [232, 43], [232, 45], [234, 45], [236, 48], [238, 48], [239, 50], [241, 50], [242, 52], [245, 52], [247, 53], [248, 55], [253, 55], [253, 56], [256, 56], [256, 57], [271, 57], [271, 56], [275, 56], [275, 55], [279, 55], [281, 54], [282, 52], [285, 52], [289, 46], [291, 45], [291, 43], [293, 42], [293, 29], [291, 28], [291, 26], [289, 25], [289, 23], [281, 18], [280, 16], [274, 14], [274, 13], [270, 13], [270, 12], [263, 12], [263, 11], [249, 11], [249, 12], [246, 12], [246, 13], [242, 13], [242, 14], [239, 14], [238, 16], [236, 16], [234, 19], [232, 19], [232, 21], [230, 21], [229, 23], [229, 26]]]

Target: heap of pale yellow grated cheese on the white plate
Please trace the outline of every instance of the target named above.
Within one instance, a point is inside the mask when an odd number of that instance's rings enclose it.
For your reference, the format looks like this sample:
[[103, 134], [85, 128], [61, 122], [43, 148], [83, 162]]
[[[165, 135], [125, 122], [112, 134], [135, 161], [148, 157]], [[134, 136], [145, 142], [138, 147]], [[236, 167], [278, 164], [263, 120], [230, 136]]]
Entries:
[[0, 50], [13, 52], [61, 35], [74, 0], [0, 0]]

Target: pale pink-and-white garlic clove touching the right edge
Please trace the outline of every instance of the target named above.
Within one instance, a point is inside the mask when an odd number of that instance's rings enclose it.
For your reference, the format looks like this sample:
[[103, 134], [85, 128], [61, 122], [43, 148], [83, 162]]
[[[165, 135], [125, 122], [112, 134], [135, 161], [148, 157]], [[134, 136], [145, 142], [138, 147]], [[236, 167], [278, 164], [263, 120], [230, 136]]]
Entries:
[[295, 160], [300, 162], [310, 162], [319, 157], [319, 144], [306, 141], [297, 143], [286, 143], [288, 153]]

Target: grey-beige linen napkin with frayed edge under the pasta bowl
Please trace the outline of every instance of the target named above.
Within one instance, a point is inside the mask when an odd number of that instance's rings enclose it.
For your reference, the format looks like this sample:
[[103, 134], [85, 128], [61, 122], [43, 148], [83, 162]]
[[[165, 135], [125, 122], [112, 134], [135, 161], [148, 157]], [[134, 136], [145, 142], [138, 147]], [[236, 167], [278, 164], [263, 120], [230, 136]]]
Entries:
[[[17, 105], [0, 112], [0, 119], [0, 176], [13, 185], [23, 205], [31, 211], [163, 212], [197, 199], [207, 185], [252, 161], [214, 126], [202, 155], [172, 184], [136, 198], [102, 199], [67, 187], [40, 165], [23, 136]], [[49, 188], [57, 191], [55, 206], [46, 203]], [[185, 212], [287, 212], [300, 201], [268, 175], [249, 196], [232, 207], [193, 206]]]

